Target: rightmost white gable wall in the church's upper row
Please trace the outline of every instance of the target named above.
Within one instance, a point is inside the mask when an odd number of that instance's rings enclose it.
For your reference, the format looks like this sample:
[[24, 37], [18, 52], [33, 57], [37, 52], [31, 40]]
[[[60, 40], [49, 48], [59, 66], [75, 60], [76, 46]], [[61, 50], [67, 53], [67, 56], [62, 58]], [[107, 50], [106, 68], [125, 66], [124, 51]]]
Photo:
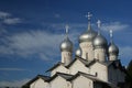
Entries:
[[97, 73], [97, 77], [108, 81], [108, 69], [107, 66], [100, 64], [100, 63], [96, 63], [94, 65], [90, 66], [90, 74], [91, 75], [96, 75]]

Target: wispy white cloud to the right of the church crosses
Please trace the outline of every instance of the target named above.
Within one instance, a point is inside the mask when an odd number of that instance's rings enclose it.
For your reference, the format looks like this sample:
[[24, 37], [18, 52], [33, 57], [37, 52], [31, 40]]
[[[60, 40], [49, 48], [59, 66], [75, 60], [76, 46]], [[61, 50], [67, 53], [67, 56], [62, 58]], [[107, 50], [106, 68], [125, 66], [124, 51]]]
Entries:
[[109, 30], [121, 31], [121, 30], [127, 30], [128, 28], [129, 28], [128, 24], [123, 24], [121, 22], [106, 23], [101, 26], [101, 29], [105, 31], [109, 31]]

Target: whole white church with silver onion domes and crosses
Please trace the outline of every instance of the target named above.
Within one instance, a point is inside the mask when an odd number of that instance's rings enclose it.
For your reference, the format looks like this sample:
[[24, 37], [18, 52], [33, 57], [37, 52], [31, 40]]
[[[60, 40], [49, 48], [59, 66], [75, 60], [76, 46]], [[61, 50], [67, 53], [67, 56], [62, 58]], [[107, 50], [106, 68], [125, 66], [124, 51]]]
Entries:
[[47, 69], [51, 76], [37, 75], [24, 86], [26, 88], [120, 88], [124, 84], [125, 68], [119, 59], [119, 47], [112, 38], [110, 42], [101, 34], [101, 22], [98, 20], [98, 32], [92, 30], [91, 14], [88, 13], [88, 28], [79, 38], [79, 47], [73, 57], [73, 42], [66, 35], [61, 43], [61, 62]]

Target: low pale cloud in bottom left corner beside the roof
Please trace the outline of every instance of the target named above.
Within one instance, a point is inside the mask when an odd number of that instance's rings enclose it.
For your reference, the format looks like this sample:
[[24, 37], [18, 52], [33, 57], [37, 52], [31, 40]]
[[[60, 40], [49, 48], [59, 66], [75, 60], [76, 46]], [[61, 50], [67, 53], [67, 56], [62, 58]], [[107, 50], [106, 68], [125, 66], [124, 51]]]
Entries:
[[22, 87], [30, 79], [13, 80], [13, 81], [0, 81], [0, 87]]

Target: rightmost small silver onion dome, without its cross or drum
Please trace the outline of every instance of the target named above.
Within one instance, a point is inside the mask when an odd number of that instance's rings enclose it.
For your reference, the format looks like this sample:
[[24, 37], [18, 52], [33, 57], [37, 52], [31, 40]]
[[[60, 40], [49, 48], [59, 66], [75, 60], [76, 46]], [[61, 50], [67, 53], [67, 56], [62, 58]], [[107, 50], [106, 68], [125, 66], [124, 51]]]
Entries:
[[114, 55], [119, 54], [119, 48], [113, 42], [110, 43], [110, 45], [108, 47], [108, 53], [109, 54], [114, 54]]

